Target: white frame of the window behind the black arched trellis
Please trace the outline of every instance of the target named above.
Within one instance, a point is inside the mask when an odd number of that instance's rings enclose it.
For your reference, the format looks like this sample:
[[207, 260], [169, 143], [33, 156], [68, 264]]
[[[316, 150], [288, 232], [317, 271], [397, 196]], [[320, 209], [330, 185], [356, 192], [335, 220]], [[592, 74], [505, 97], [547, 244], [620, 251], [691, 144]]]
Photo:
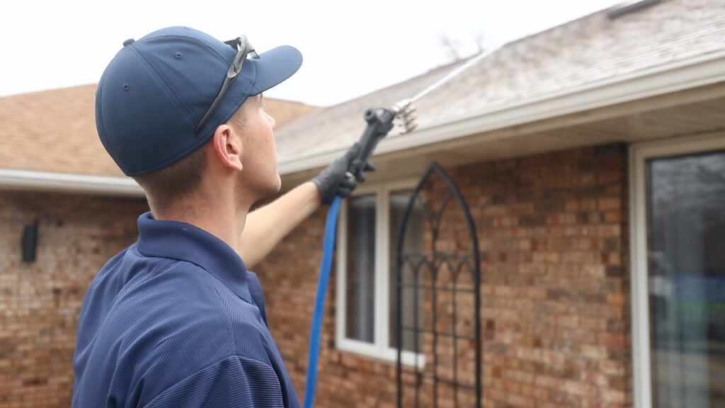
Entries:
[[[360, 340], [353, 340], [345, 337], [347, 318], [347, 200], [342, 203], [339, 222], [337, 226], [337, 292], [336, 292], [336, 347], [340, 350], [350, 351], [356, 354], [363, 354], [376, 359], [384, 359], [396, 362], [398, 359], [397, 349], [389, 347], [389, 271], [390, 256], [389, 250], [389, 229], [390, 229], [390, 192], [402, 189], [415, 189], [418, 180], [404, 179], [399, 181], [388, 181], [380, 184], [363, 185], [355, 189], [354, 196], [376, 195], [376, 226], [375, 226], [375, 338], [373, 343], [366, 343]], [[381, 209], [387, 211], [381, 211]], [[402, 351], [402, 363], [424, 367], [426, 357], [423, 353], [415, 354], [411, 351]]]

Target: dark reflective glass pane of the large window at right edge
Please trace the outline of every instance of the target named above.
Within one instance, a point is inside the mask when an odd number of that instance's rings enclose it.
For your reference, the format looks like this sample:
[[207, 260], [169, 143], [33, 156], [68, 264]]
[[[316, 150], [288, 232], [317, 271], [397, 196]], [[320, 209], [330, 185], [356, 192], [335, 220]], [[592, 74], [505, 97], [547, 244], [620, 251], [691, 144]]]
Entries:
[[725, 152], [647, 178], [653, 404], [725, 407]]

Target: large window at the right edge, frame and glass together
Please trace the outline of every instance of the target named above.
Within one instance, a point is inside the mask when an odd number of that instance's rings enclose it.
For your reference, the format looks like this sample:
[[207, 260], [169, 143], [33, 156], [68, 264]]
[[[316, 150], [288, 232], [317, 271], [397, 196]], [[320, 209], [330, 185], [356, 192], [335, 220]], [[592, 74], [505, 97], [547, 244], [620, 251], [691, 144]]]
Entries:
[[632, 149], [637, 407], [725, 406], [725, 138]]

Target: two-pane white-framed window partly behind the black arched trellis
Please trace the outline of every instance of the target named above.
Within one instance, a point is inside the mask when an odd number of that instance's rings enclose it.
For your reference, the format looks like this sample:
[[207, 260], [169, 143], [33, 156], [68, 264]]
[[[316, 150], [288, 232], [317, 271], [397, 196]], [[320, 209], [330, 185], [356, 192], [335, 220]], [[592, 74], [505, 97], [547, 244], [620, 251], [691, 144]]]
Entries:
[[[397, 240], [413, 182], [359, 187], [343, 204], [337, 240], [337, 347], [394, 361], [396, 338]], [[408, 221], [406, 251], [423, 250], [422, 211], [414, 210]], [[413, 326], [413, 296], [403, 297], [403, 325]], [[423, 301], [417, 305], [423, 316]], [[403, 336], [403, 362], [424, 364], [415, 354], [415, 335]], [[422, 345], [418, 338], [418, 347]], [[418, 357], [416, 359], [416, 356]]]

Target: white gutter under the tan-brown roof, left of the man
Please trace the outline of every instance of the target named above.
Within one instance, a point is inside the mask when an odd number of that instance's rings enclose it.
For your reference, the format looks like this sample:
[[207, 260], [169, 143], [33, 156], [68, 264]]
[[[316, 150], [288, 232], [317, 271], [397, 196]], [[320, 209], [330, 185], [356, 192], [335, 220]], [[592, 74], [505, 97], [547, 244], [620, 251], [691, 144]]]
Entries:
[[144, 190], [128, 177], [89, 176], [49, 171], [0, 168], [0, 189], [30, 189], [85, 194], [143, 197]]

